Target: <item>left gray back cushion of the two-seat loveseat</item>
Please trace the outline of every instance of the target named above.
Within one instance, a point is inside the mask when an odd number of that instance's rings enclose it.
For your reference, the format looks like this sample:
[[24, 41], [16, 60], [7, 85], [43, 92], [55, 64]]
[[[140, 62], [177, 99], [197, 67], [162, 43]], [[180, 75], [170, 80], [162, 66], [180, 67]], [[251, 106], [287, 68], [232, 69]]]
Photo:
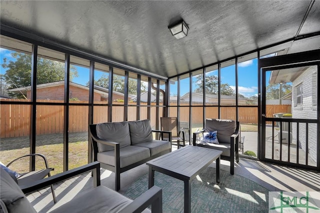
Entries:
[[[130, 145], [129, 125], [127, 121], [96, 124], [98, 138], [120, 143], [120, 148]], [[113, 146], [97, 143], [98, 152], [113, 150]]]

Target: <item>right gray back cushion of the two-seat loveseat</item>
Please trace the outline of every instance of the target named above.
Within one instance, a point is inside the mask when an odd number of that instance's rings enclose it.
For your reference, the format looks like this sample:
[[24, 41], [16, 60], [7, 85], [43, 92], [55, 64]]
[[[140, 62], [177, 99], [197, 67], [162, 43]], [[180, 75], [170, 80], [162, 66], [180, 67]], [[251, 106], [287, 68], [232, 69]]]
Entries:
[[131, 145], [147, 142], [153, 139], [150, 121], [136, 120], [129, 122]]

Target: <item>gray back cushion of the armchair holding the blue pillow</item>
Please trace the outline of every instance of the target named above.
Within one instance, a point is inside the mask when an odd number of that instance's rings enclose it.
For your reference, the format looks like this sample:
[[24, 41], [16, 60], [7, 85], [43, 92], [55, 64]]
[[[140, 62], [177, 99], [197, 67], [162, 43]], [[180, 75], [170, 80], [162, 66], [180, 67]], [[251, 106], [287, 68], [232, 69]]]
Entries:
[[217, 131], [217, 138], [219, 142], [230, 143], [230, 136], [235, 132], [235, 120], [222, 120], [222, 119], [205, 119], [204, 131]]

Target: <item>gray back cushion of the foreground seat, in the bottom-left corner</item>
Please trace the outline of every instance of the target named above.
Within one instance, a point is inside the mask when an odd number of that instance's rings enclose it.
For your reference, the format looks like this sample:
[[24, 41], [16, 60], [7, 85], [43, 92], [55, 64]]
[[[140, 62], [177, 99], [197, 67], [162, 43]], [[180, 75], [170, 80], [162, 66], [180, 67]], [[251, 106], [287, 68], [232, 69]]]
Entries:
[[36, 212], [18, 184], [3, 168], [0, 168], [0, 176], [1, 211]]

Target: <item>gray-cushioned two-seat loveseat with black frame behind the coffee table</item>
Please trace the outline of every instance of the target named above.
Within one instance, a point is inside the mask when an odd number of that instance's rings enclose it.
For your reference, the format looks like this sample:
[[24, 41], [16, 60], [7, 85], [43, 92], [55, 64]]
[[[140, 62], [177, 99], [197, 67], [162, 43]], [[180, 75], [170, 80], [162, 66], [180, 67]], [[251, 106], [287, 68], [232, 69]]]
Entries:
[[[153, 139], [152, 132], [167, 133], [169, 141]], [[115, 190], [120, 173], [171, 151], [171, 132], [153, 130], [150, 121], [105, 122], [89, 125], [93, 161], [115, 173]]]

